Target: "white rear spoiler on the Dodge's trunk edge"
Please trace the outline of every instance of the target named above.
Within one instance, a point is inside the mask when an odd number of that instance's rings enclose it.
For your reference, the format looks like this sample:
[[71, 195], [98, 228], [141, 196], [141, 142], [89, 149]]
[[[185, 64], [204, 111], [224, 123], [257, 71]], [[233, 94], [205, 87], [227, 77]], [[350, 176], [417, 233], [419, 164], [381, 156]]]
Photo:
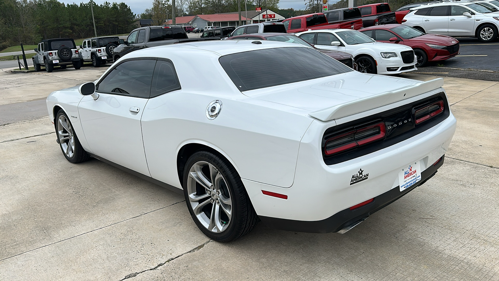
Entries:
[[339, 105], [320, 109], [308, 113], [308, 115], [322, 121], [329, 121], [352, 114], [360, 113], [369, 109], [394, 103], [409, 97], [416, 96], [444, 85], [444, 78], [437, 78], [426, 82], [417, 83], [412, 86], [403, 87], [394, 91], [388, 91], [382, 94], [367, 98], [359, 98]]

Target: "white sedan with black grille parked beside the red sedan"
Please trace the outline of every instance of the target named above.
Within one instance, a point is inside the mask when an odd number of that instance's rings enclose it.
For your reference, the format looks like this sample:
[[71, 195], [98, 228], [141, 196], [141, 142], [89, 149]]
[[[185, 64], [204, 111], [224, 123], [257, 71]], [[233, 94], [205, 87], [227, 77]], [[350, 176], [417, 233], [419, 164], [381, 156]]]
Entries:
[[360, 72], [398, 74], [417, 69], [416, 56], [411, 47], [376, 42], [357, 30], [309, 30], [296, 35], [319, 49], [352, 54]]

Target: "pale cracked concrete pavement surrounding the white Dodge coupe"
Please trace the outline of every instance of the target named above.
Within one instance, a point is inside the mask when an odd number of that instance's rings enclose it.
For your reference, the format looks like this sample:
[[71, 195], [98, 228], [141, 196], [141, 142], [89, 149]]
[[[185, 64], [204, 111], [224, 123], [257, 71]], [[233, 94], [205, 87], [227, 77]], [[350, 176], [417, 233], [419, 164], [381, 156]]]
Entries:
[[445, 77], [458, 120], [446, 162], [346, 234], [259, 223], [218, 243], [183, 196], [62, 155], [43, 100], [104, 70], [0, 72], [0, 280], [499, 279], [498, 81]]

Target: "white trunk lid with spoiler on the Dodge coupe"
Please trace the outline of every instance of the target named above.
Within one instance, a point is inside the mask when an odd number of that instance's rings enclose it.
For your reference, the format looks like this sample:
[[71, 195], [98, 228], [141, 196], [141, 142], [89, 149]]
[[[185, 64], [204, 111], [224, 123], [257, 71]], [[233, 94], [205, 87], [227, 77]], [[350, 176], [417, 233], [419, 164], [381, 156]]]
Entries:
[[[440, 79], [438, 83], [428, 83], [350, 71], [307, 81], [248, 90], [243, 93], [253, 98], [304, 109], [310, 112], [309, 115], [328, 120], [390, 104], [439, 88], [442, 84], [443, 80], [440, 81]], [[391, 94], [397, 94], [397, 97]], [[362, 104], [356, 106], [355, 103]], [[349, 106], [343, 108], [348, 110], [343, 110], [340, 115], [332, 113], [335, 107], [344, 105]], [[312, 112], [319, 111], [322, 111], [321, 116], [312, 114]]]

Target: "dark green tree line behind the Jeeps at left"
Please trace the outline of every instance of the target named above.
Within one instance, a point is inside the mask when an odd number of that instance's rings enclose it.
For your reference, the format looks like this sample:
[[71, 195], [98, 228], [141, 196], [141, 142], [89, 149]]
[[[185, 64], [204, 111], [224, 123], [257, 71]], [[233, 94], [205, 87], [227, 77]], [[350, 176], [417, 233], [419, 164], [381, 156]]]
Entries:
[[[128, 33], [135, 14], [121, 3], [93, 4], [97, 35]], [[0, 50], [41, 39], [94, 36], [90, 3], [64, 4], [57, 0], [0, 0]]]

